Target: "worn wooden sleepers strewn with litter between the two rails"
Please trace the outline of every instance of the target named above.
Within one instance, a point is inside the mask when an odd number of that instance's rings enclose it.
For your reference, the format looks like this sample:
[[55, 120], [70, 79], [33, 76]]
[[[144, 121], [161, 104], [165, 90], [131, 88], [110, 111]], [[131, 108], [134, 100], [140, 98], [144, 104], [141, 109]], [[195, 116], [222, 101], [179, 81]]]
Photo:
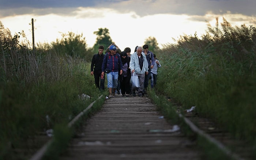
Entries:
[[60, 159], [200, 159], [195, 142], [172, 129], [146, 97], [116, 95], [84, 123]]

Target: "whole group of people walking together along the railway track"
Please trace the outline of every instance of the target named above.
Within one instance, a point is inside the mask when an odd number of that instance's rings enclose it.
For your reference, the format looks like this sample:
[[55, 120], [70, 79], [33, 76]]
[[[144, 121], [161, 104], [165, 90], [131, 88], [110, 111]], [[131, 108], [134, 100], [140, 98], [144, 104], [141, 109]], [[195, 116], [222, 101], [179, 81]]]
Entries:
[[[91, 75], [94, 75], [95, 85], [100, 90], [105, 89], [105, 76], [108, 80], [109, 98], [116, 92], [122, 96], [133, 95], [142, 97], [147, 92], [149, 80], [151, 88], [157, 83], [157, 69], [161, 67], [155, 54], [148, 50], [148, 45], [136, 46], [135, 52], [126, 47], [122, 52], [119, 47], [112, 43], [105, 50], [100, 45], [98, 53], [94, 54], [91, 61]], [[133, 73], [139, 78], [140, 87], [132, 88], [131, 76]]]

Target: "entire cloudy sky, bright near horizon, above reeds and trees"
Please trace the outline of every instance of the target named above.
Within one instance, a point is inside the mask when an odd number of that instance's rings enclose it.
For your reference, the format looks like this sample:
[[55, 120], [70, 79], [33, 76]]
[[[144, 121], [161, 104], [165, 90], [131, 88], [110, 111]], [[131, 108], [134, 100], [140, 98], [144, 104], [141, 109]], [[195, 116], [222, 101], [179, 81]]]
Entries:
[[[256, 24], [255, 0], [0, 0], [0, 21], [12, 34], [24, 30], [35, 42], [52, 42], [60, 33], [81, 34], [93, 46], [98, 28], [124, 47], [143, 45], [148, 37], [172, 43], [183, 34], [205, 33], [208, 21], [226, 18], [233, 26]], [[107, 46], [105, 46], [107, 47]]]

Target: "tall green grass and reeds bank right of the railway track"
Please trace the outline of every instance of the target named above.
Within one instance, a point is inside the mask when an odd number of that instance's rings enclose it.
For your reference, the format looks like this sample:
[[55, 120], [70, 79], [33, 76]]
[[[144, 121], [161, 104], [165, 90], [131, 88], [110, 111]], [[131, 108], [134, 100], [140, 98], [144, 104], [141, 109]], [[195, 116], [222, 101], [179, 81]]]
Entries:
[[208, 26], [201, 38], [185, 35], [159, 51], [156, 90], [256, 146], [255, 49], [254, 27], [223, 18], [221, 29]]

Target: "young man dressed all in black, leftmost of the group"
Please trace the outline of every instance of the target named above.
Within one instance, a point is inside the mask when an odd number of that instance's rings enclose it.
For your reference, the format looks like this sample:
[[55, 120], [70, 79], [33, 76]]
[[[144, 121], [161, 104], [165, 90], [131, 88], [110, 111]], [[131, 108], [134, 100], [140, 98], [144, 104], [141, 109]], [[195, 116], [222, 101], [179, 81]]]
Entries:
[[93, 59], [91, 60], [91, 75], [94, 75], [95, 85], [97, 88], [99, 88], [99, 90], [105, 89], [105, 75], [102, 76], [101, 74], [102, 62], [105, 56], [105, 54], [103, 54], [103, 50], [104, 46], [100, 45], [98, 54], [94, 54]]

